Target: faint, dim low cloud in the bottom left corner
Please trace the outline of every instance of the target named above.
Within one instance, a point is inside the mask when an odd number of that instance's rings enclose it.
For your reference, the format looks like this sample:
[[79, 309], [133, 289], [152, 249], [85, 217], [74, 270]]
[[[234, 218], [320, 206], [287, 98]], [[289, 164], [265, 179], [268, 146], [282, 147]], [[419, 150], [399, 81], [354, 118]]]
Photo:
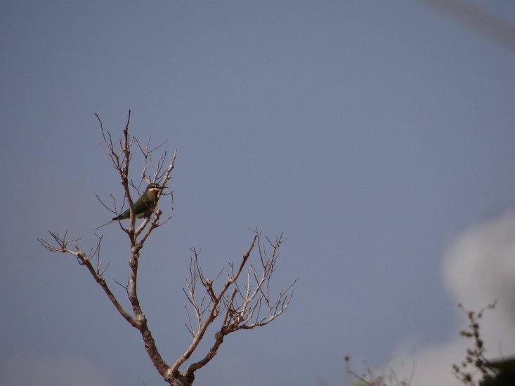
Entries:
[[0, 368], [3, 386], [110, 386], [106, 373], [79, 357], [17, 356]]

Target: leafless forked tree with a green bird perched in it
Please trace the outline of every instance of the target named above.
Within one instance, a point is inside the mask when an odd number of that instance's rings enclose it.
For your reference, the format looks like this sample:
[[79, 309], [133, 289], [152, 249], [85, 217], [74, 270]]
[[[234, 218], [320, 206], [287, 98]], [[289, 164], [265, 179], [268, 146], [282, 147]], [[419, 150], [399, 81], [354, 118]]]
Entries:
[[[64, 234], [48, 231], [51, 234], [52, 241], [49, 242], [44, 239], [38, 239], [38, 241], [48, 251], [67, 253], [68, 255], [74, 256], [77, 258], [79, 265], [83, 265], [88, 269], [93, 279], [103, 289], [107, 298], [109, 298], [119, 314], [141, 333], [145, 350], [152, 364], [165, 382], [174, 386], [193, 385], [195, 371], [202, 368], [213, 359], [226, 335], [239, 330], [265, 326], [287, 309], [289, 302], [292, 300], [292, 287], [296, 283], [296, 280], [292, 281], [284, 291], [281, 291], [274, 298], [270, 295], [270, 280], [277, 266], [279, 250], [284, 238], [281, 234], [280, 237], [274, 241], [270, 241], [270, 239], [266, 237], [263, 239], [261, 231], [257, 228], [254, 229], [254, 237], [252, 238], [249, 248], [240, 262], [229, 264], [228, 275], [225, 281], [220, 279], [223, 270], [213, 279], [209, 279], [202, 271], [199, 262], [199, 253], [195, 248], [191, 250], [193, 256], [190, 260], [189, 279], [183, 291], [189, 302], [189, 307], [186, 307], [188, 311], [188, 322], [185, 326], [188, 328], [193, 339], [181, 357], [170, 366], [157, 350], [152, 332], [150, 328], [148, 328], [148, 321], [138, 298], [138, 263], [141, 249], [145, 242], [148, 241], [150, 234], [155, 231], [157, 227], [164, 225], [169, 218], [164, 220], [164, 222], [160, 222], [162, 211], [160, 211], [156, 205], [152, 207], [152, 213], [143, 219], [141, 225], [136, 227], [137, 213], [135, 213], [130, 188], [133, 187], [138, 190], [145, 181], [158, 183], [161, 187], [167, 187], [169, 180], [171, 180], [171, 173], [174, 170], [177, 152], [171, 155], [169, 161], [167, 161], [167, 152], [164, 152], [158, 157], [157, 162], [155, 162], [152, 156], [164, 143], [151, 148], [150, 138], [145, 145], [142, 145], [136, 138], [131, 137], [129, 135], [129, 123], [131, 120], [130, 110], [123, 131], [123, 137], [119, 140], [117, 145], [113, 142], [110, 132], [105, 131], [100, 117], [98, 117], [97, 114], [95, 114], [95, 116], [100, 125], [103, 145], [110, 157], [112, 165], [115, 166], [119, 178], [121, 179], [124, 188], [124, 202], [119, 208], [114, 196], [111, 195], [112, 206], [108, 206], [98, 196], [97, 197], [105, 208], [115, 214], [115, 218], [119, 217], [120, 213], [123, 212], [125, 205], [129, 207], [129, 225], [125, 227], [122, 225], [122, 222], [119, 220], [118, 222], [123, 232], [129, 237], [130, 273], [124, 288], [126, 289], [132, 311], [129, 312], [124, 309], [103, 276], [105, 269], [103, 269], [102, 260], [100, 260], [100, 244], [103, 236], [97, 235], [98, 241], [90, 253], [84, 252], [79, 247], [77, 241], [68, 239], [67, 231]], [[131, 164], [133, 155], [132, 150], [136, 148], [143, 155], [141, 181], [137, 185], [129, 177], [129, 165]], [[258, 268], [249, 264], [253, 252], [259, 255], [259, 260], [256, 264]], [[200, 341], [205, 337], [204, 335], [207, 329], [214, 324], [214, 321], [217, 319], [221, 321], [221, 328], [214, 334], [214, 342], [209, 352], [207, 352], [200, 361], [190, 364], [185, 371], [181, 371], [181, 366], [183, 366], [185, 362], [190, 359], [193, 352], [197, 350]]]

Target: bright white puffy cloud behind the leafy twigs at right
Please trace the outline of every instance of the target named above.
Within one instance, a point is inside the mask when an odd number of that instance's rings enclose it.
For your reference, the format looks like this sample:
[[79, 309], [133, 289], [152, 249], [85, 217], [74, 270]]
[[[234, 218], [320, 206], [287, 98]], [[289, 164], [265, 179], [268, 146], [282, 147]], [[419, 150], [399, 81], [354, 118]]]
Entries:
[[[481, 319], [481, 335], [488, 352], [498, 358], [515, 354], [515, 211], [467, 229], [448, 249], [443, 261], [443, 275], [456, 303], [467, 310], [480, 310], [497, 300], [495, 310]], [[459, 312], [459, 310], [457, 310]], [[402, 378], [408, 376], [415, 361], [413, 386], [462, 385], [451, 373], [450, 366], [465, 357], [472, 341], [458, 335], [461, 323], [445, 342], [429, 347], [404, 344], [393, 354], [390, 365], [396, 371], [403, 364]]]

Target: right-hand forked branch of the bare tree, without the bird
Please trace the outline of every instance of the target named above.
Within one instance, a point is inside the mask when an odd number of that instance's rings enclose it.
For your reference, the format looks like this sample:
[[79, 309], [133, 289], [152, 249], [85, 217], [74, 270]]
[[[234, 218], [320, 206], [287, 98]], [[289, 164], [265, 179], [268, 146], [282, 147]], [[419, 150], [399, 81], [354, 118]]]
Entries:
[[[199, 253], [193, 249], [193, 256], [190, 260], [190, 279], [183, 291], [193, 308], [195, 321], [192, 321], [192, 314], [188, 312], [188, 331], [193, 336], [193, 341], [184, 354], [179, 358], [172, 372], [178, 372], [180, 366], [187, 361], [197, 349], [200, 341], [204, 338], [207, 329], [217, 317], [223, 315], [221, 328], [215, 333], [214, 343], [203, 359], [190, 364], [186, 375], [193, 374], [199, 368], [206, 365], [219, 349], [223, 338], [229, 333], [238, 330], [248, 330], [266, 324], [277, 318], [287, 310], [293, 296], [295, 279], [287, 288], [280, 291], [275, 298], [270, 295], [270, 281], [275, 271], [279, 257], [279, 249], [285, 240], [282, 234], [278, 239], [271, 242], [266, 239], [265, 243], [261, 237], [261, 231], [254, 229], [254, 238], [247, 252], [243, 255], [239, 265], [229, 264], [229, 274], [218, 292], [214, 284], [219, 279], [221, 272], [214, 279], [204, 276], [199, 262]], [[252, 251], [258, 246], [259, 269], [247, 264]], [[271, 249], [270, 256], [267, 249]], [[247, 267], [247, 274], [242, 274]], [[202, 291], [198, 291], [198, 288]], [[188, 310], [188, 308], [187, 308]]]

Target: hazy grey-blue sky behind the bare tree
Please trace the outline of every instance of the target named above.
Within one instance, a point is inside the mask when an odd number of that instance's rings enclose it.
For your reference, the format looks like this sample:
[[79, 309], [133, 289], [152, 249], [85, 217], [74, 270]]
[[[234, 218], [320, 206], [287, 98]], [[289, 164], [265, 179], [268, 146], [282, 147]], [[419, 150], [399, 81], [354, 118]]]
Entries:
[[[276, 284], [300, 277], [289, 310], [230, 335], [197, 384], [343, 385], [351, 354], [455, 385], [460, 301], [498, 298], [491, 353], [515, 352], [496, 279], [515, 276], [515, 6], [457, 4], [504, 37], [435, 0], [3, 1], [1, 383], [163, 384], [86, 270], [36, 241], [69, 229], [94, 245], [110, 218], [95, 194], [123, 194], [93, 113], [117, 135], [128, 109], [133, 135], [178, 149], [172, 219], [141, 262], [169, 362], [189, 344], [189, 248], [215, 273], [247, 227], [283, 231]], [[116, 286], [126, 244], [103, 232]]]

